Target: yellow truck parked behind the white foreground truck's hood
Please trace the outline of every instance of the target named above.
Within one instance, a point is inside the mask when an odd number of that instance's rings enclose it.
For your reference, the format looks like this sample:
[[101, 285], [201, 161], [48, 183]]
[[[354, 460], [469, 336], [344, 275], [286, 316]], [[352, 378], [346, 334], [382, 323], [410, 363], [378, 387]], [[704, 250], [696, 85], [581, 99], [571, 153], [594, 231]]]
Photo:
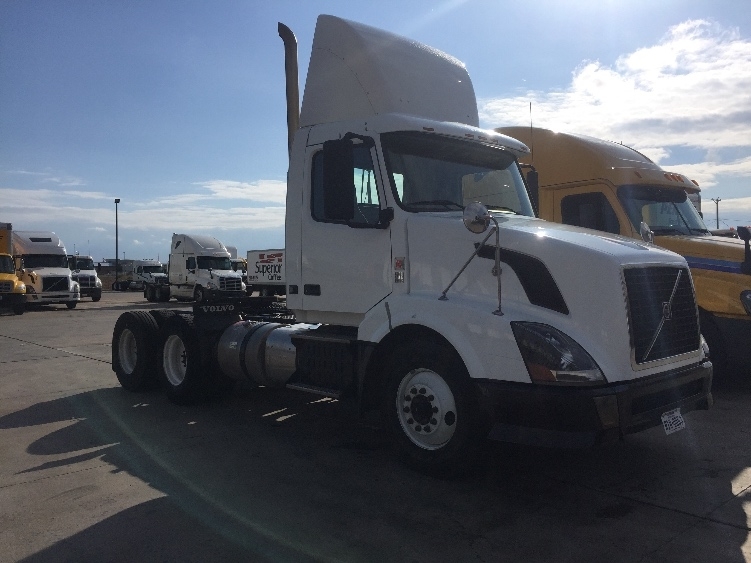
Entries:
[[655, 244], [685, 257], [715, 372], [751, 366], [748, 227], [737, 228], [737, 239], [712, 236], [691, 203], [698, 185], [624, 145], [538, 128], [498, 131], [533, 147], [522, 162], [538, 174], [541, 218], [637, 239], [645, 223]]

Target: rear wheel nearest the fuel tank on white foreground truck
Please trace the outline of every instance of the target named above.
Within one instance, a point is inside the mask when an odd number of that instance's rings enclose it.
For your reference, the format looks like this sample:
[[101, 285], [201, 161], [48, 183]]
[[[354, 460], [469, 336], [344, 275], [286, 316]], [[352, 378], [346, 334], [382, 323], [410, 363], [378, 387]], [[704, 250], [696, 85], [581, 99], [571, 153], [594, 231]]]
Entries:
[[208, 380], [201, 346], [190, 315], [174, 315], [161, 328], [159, 380], [167, 397], [179, 405], [207, 398]]

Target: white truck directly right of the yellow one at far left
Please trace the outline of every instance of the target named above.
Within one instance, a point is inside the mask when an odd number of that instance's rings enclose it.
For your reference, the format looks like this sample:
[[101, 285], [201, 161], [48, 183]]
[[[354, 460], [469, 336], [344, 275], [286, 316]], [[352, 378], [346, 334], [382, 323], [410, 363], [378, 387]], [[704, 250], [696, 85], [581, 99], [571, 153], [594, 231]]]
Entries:
[[65, 304], [74, 309], [81, 300], [73, 281], [65, 246], [49, 231], [13, 231], [16, 275], [26, 285], [26, 305]]

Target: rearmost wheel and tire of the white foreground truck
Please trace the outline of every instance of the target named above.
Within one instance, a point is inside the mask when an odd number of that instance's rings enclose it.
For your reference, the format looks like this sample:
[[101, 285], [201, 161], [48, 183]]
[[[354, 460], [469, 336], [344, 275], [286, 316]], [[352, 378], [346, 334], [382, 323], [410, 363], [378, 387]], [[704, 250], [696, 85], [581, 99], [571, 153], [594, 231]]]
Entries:
[[112, 333], [112, 370], [124, 389], [145, 391], [156, 383], [156, 320], [147, 311], [120, 315]]

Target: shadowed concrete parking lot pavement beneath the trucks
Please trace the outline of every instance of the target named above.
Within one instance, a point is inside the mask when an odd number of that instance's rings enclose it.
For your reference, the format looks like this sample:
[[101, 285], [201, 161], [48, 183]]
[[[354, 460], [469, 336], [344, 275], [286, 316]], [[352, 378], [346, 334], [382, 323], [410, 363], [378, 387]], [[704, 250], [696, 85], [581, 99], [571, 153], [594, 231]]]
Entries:
[[0, 561], [751, 561], [744, 378], [676, 434], [488, 443], [476, 475], [441, 481], [330, 399], [124, 391], [113, 326], [153, 306], [0, 313]]

